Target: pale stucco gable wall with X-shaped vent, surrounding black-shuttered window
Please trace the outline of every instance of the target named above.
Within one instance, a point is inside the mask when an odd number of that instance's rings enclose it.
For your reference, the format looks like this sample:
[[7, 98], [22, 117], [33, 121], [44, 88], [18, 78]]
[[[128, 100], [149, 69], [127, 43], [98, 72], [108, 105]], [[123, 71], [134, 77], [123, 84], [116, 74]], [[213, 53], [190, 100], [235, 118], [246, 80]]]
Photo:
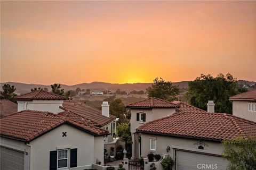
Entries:
[[[62, 137], [62, 132], [67, 132], [67, 137]], [[50, 151], [57, 150], [57, 147], [77, 148], [78, 167], [91, 165], [96, 159], [103, 163], [103, 137], [94, 138], [93, 135], [67, 124], [31, 141], [30, 146], [31, 169], [49, 169]]]

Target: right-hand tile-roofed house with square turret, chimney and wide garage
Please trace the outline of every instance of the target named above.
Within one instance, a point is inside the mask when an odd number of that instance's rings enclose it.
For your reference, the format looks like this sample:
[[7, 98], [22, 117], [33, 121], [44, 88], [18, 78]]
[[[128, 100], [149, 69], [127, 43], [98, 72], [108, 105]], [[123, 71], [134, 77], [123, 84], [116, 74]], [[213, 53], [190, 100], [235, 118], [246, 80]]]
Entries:
[[[208, 107], [214, 111], [212, 102]], [[174, 169], [199, 169], [203, 164], [226, 169], [221, 141], [239, 135], [256, 137], [255, 122], [180, 101], [147, 98], [126, 108], [131, 109], [132, 158], [147, 157], [149, 152], [169, 154], [175, 160]]]

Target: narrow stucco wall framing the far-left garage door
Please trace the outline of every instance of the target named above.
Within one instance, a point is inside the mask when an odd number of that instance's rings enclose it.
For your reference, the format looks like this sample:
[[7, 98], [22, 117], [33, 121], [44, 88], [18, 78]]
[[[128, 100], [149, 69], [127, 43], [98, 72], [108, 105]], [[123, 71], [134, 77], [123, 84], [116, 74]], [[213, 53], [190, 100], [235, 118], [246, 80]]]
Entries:
[[6, 148], [22, 151], [26, 153], [24, 155], [24, 169], [30, 169], [30, 146], [26, 145], [25, 142], [13, 140], [9, 138], [0, 138], [0, 145]]

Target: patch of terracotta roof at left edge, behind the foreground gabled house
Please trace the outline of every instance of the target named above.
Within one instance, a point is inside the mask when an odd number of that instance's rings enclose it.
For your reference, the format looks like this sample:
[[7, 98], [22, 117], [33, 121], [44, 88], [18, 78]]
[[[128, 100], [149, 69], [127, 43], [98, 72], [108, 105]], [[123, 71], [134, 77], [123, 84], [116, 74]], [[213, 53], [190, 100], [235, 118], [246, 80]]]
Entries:
[[0, 100], [0, 118], [17, 113], [18, 105], [10, 100]]

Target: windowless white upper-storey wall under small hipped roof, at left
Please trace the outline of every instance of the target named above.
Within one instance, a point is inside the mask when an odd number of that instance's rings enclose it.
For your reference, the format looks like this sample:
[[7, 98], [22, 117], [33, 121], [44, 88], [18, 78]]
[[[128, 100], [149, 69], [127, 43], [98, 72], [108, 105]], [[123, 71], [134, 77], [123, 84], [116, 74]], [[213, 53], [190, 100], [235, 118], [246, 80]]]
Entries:
[[32, 100], [32, 101], [17, 101], [18, 112], [24, 110], [32, 111], [47, 111], [52, 113], [63, 112], [60, 106], [63, 104], [63, 100]]

